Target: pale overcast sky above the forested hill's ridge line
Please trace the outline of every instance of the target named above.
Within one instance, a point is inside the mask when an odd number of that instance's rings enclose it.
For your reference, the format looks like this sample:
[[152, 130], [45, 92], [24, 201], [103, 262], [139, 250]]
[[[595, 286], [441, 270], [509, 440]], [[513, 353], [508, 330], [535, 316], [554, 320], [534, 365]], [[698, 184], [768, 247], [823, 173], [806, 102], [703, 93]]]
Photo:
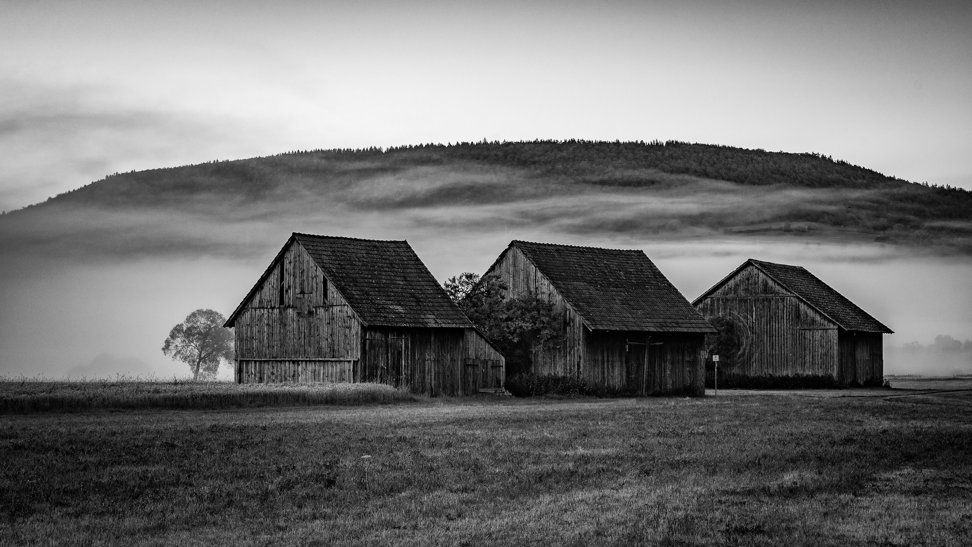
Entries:
[[972, 2], [0, 3], [0, 209], [114, 171], [534, 138], [972, 189]]

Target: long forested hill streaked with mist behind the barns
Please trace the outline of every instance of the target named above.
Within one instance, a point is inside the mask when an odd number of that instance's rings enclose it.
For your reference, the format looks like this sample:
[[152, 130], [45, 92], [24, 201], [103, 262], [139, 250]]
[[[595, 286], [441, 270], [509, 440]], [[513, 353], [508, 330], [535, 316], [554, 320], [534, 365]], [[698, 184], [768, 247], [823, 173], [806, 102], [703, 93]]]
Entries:
[[[3, 218], [5, 224], [23, 218], [18, 224], [25, 230], [50, 218], [68, 226], [56, 210], [72, 207], [152, 211], [159, 218], [204, 215], [214, 222], [267, 218], [273, 210], [281, 230], [313, 229], [305, 221], [314, 215], [350, 219], [376, 211], [386, 219], [401, 211], [411, 215], [402, 222], [414, 226], [444, 222], [442, 207], [465, 207], [459, 218], [475, 217], [486, 230], [513, 223], [624, 237], [788, 233], [972, 253], [972, 192], [908, 182], [820, 154], [678, 141], [295, 151], [116, 173]], [[31, 210], [50, 213], [32, 216]]]

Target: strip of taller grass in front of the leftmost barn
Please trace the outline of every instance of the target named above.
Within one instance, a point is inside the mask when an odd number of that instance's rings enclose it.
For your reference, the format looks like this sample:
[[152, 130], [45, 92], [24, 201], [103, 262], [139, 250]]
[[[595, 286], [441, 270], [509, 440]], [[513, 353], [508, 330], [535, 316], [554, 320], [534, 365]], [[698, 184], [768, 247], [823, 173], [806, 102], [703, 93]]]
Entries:
[[220, 409], [281, 405], [357, 405], [415, 401], [381, 383], [188, 382], [118, 377], [51, 381], [0, 378], [0, 414], [85, 409]]

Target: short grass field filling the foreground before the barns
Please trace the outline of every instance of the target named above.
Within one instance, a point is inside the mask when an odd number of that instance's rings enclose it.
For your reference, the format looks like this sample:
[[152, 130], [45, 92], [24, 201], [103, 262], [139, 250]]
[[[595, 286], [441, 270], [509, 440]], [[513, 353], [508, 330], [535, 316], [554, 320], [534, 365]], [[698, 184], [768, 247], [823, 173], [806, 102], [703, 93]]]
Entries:
[[0, 417], [3, 545], [966, 545], [972, 399]]

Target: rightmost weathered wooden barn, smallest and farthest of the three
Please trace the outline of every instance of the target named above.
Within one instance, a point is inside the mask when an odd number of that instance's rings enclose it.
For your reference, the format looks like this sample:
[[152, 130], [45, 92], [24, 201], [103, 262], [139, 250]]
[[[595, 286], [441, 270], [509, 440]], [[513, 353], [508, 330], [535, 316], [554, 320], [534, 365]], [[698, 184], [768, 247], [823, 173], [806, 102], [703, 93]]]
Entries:
[[882, 334], [892, 331], [800, 266], [749, 259], [692, 305], [735, 332], [733, 373], [884, 378]]

